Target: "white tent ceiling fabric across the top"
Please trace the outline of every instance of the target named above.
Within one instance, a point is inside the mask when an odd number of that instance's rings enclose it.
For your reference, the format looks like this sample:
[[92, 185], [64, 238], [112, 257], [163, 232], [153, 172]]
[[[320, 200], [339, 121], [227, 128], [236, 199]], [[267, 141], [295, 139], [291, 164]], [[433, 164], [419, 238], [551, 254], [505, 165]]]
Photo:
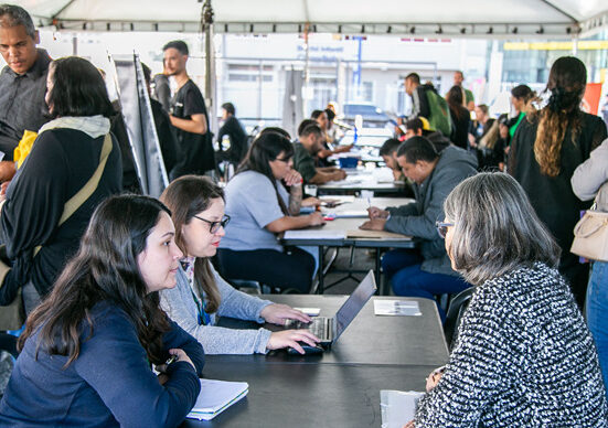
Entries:
[[[22, 0], [36, 23], [99, 31], [200, 30], [198, 0]], [[215, 32], [558, 35], [608, 25], [606, 0], [212, 0]], [[53, 21], [55, 20], [55, 21]]]

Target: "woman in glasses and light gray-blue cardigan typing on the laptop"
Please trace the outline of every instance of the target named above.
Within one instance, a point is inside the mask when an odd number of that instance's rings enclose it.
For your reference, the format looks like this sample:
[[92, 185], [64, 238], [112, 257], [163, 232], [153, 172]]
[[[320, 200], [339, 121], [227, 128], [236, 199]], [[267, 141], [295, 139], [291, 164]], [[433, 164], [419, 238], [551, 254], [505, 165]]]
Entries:
[[213, 257], [231, 217], [224, 215], [224, 193], [211, 180], [184, 175], [174, 180], [160, 200], [171, 210], [175, 243], [184, 254], [178, 286], [161, 291], [161, 307], [183, 330], [192, 334], [207, 354], [266, 353], [298, 342], [314, 345], [308, 330], [270, 332], [266, 329], [234, 330], [216, 327], [217, 315], [284, 325], [288, 319], [310, 318], [286, 304], [271, 303], [235, 290], [213, 268]]

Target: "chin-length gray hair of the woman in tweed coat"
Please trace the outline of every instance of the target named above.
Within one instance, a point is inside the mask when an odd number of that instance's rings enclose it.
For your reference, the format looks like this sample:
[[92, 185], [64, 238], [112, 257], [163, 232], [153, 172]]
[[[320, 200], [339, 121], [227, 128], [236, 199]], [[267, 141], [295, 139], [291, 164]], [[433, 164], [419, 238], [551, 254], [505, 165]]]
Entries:
[[536, 261], [552, 267], [559, 263], [559, 246], [509, 174], [482, 172], [466, 179], [448, 195], [444, 211], [454, 222], [448, 253], [470, 283]]

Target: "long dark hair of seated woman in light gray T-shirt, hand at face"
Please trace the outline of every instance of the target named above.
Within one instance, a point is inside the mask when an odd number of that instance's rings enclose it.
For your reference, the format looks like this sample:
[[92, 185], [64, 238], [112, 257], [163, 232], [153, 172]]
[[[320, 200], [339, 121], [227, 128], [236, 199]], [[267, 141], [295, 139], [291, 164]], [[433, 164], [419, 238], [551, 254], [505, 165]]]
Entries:
[[236, 173], [238, 174], [244, 171], [255, 171], [266, 175], [266, 178], [270, 180], [270, 183], [273, 183], [273, 188], [275, 188], [280, 210], [285, 215], [289, 215], [289, 211], [279, 195], [277, 179], [275, 179], [270, 168], [270, 161], [276, 160], [281, 152], [284, 153], [285, 159], [294, 157], [294, 146], [291, 146], [291, 142], [287, 138], [277, 132], [266, 132], [260, 135], [252, 143], [252, 147], [249, 147], [249, 151], [238, 167], [238, 171]]

